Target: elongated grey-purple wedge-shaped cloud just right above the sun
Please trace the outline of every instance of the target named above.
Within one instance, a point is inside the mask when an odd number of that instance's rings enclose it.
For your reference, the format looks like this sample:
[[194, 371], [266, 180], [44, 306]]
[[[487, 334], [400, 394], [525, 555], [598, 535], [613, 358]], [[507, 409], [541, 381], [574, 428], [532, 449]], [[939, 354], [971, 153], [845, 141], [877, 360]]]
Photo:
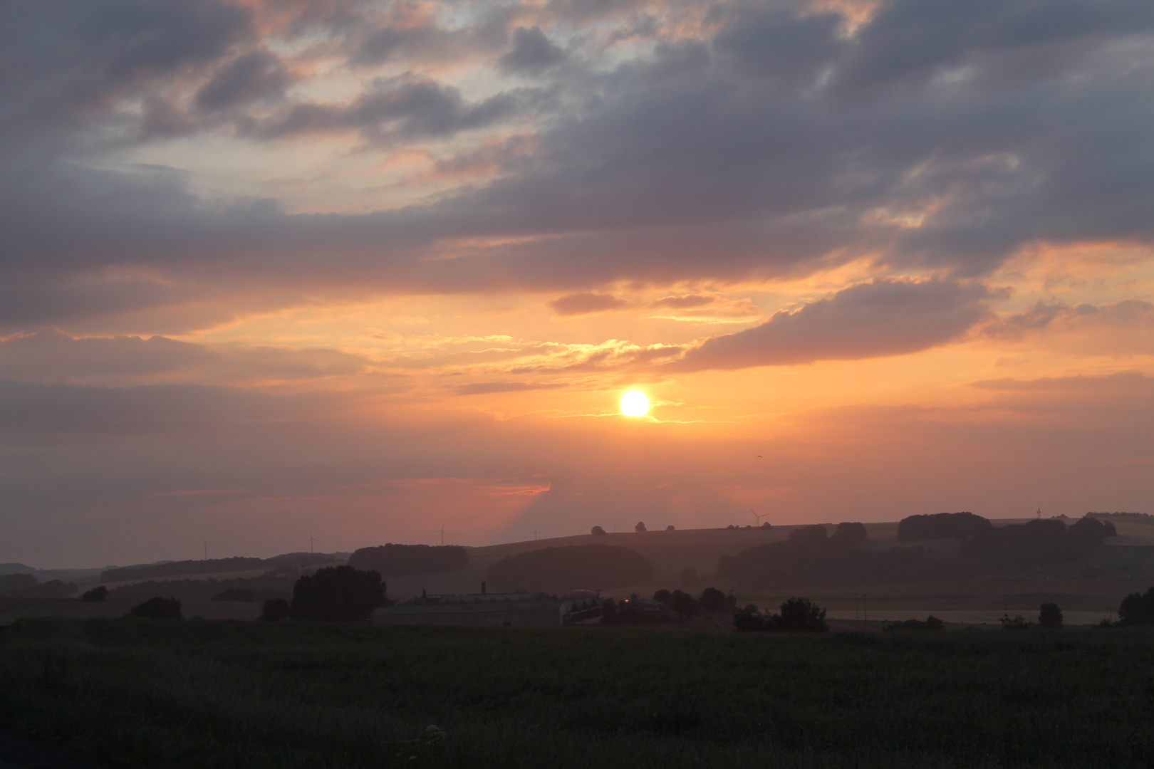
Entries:
[[792, 365], [901, 355], [952, 341], [988, 311], [990, 293], [952, 280], [877, 278], [765, 323], [706, 339], [673, 363], [681, 370]]

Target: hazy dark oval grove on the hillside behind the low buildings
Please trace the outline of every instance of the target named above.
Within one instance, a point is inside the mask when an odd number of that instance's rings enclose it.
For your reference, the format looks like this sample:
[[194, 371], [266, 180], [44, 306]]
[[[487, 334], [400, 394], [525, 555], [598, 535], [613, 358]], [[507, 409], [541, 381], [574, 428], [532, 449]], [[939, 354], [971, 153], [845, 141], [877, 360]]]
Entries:
[[531, 550], [489, 566], [492, 589], [560, 594], [572, 589], [612, 589], [644, 585], [653, 564], [636, 550], [609, 544]]

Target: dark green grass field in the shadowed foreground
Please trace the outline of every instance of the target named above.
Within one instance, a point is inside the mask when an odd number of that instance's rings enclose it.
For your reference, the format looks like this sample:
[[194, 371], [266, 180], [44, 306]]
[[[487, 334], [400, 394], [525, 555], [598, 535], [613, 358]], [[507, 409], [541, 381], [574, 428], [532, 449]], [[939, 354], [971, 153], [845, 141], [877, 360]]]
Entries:
[[0, 721], [197, 769], [1148, 767], [1154, 633], [24, 620]]

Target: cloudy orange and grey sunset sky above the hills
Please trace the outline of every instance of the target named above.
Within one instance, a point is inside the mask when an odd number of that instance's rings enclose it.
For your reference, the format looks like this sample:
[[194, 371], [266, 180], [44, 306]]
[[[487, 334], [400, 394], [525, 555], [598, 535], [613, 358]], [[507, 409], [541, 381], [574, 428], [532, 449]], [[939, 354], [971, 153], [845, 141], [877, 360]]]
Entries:
[[2, 3], [0, 561], [1154, 512], [1152, 136], [1148, 0]]

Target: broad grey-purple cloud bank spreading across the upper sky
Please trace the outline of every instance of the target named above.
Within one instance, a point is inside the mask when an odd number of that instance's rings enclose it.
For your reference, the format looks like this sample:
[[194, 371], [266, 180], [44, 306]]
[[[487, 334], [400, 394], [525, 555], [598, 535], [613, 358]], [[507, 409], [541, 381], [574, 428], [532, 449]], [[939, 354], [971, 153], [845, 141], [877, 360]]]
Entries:
[[[557, 314], [572, 315], [612, 309], [598, 297], [614, 281], [724, 284], [864, 255], [879, 274], [946, 276], [875, 281], [685, 360], [729, 368], [941, 344], [982, 316], [981, 278], [1022, 244], [1154, 236], [1145, 1], [897, 0], [852, 36], [837, 13], [800, 2], [721, 3], [696, 37], [630, 27], [654, 47], [612, 70], [508, 9], [406, 33], [369, 8], [0, 7], [0, 326], [163, 308], [224, 286], [556, 292]], [[576, 8], [552, 13], [579, 28]], [[617, 18], [624, 35], [632, 22], [614, 13], [599, 23]], [[347, 101], [309, 101], [291, 95], [298, 75], [263, 28], [329, 36], [353, 69], [474, 56], [514, 80], [471, 99], [414, 70], [368, 78]], [[95, 167], [110, 148], [201, 131], [389, 146], [530, 118], [542, 127], [533, 151], [494, 181], [367, 214], [290, 214], [271, 199], [204, 199], [171, 169]], [[921, 226], [900, 226], [909, 217]], [[165, 280], [107, 278], [126, 266]], [[934, 292], [944, 304], [928, 311], [917, 296]]]

